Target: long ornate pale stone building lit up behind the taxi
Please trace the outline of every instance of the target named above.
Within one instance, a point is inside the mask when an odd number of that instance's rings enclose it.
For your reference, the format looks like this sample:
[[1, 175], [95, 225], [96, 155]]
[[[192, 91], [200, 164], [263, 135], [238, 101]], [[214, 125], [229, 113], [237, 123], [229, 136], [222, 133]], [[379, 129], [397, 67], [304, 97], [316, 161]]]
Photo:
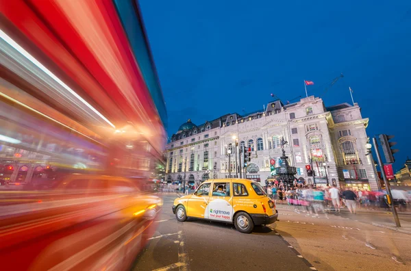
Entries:
[[[188, 120], [166, 145], [166, 181], [200, 183], [226, 178], [230, 168], [231, 176], [239, 177], [242, 162], [237, 143], [251, 148], [247, 179], [264, 184], [271, 176], [271, 160], [281, 156], [284, 138], [286, 155], [297, 168], [298, 179], [377, 190], [373, 161], [366, 156], [368, 122], [357, 104], [325, 107], [322, 99], [314, 96], [287, 105], [272, 101], [264, 111], [226, 114], [198, 126]], [[307, 175], [308, 164], [314, 177]]]

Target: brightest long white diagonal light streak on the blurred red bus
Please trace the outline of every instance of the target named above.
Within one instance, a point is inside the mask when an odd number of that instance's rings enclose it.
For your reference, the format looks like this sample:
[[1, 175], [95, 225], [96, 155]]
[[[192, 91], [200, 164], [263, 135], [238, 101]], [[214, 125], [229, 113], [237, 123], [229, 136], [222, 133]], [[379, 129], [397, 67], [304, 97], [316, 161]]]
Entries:
[[88, 108], [90, 108], [93, 112], [95, 112], [95, 114], [97, 114], [100, 118], [102, 118], [105, 122], [107, 122], [111, 127], [113, 127], [114, 129], [116, 128], [112, 122], [110, 122], [110, 120], [108, 120], [107, 118], [105, 118], [105, 116], [103, 116], [103, 114], [101, 114], [100, 112], [97, 111], [97, 109], [95, 109], [94, 107], [92, 107], [92, 105], [90, 105], [90, 103], [88, 103], [86, 100], [84, 100], [82, 98], [82, 96], [79, 96], [79, 94], [77, 94], [74, 90], [72, 90], [69, 86], [67, 86], [62, 80], [60, 80], [57, 76], [55, 76], [53, 73], [51, 73], [51, 71], [46, 68], [45, 66], [43, 66], [40, 62], [38, 62], [38, 60], [36, 60], [36, 58], [34, 58], [32, 55], [30, 55], [27, 51], [25, 51], [25, 49], [23, 49], [23, 47], [21, 47], [20, 45], [17, 44], [17, 42], [15, 42], [14, 40], [12, 40], [12, 38], [10, 38], [10, 36], [8, 36], [7, 34], [5, 34], [1, 29], [0, 29], [0, 38], [2, 38], [5, 42], [7, 42], [11, 47], [13, 47], [14, 49], [16, 49], [18, 51], [18, 53], [21, 53], [24, 57], [27, 58], [27, 60], [30, 60], [34, 65], [36, 65], [38, 68], [40, 68], [40, 70], [42, 70], [43, 72], [45, 72], [47, 75], [49, 75], [49, 77], [51, 77], [52, 79], [54, 79], [57, 83], [60, 84], [60, 86], [62, 86], [63, 88], [65, 88], [68, 92], [70, 92], [71, 94], [73, 94], [73, 96], [75, 96], [77, 99], [79, 99], [79, 101], [81, 101], [82, 103], [84, 103], [84, 105], [86, 105]]

